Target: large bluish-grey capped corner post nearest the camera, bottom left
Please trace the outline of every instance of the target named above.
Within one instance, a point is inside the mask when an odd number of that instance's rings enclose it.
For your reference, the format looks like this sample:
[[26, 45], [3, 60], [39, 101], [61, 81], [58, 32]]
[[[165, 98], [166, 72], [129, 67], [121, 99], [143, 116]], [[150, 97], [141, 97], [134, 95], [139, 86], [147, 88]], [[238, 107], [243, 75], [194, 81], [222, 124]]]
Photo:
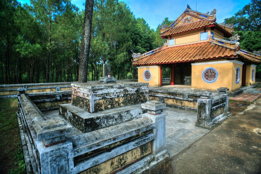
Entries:
[[73, 144], [65, 137], [72, 126], [61, 119], [47, 119], [40, 122], [39, 130], [36, 147], [41, 173], [73, 173]]

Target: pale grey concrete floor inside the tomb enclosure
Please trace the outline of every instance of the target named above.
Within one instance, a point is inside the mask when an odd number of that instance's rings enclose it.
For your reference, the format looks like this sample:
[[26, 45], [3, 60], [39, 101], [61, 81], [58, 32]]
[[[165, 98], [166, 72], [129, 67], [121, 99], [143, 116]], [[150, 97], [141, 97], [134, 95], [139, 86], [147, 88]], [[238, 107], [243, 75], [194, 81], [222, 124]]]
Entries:
[[[166, 149], [170, 158], [191, 145], [210, 130], [195, 126], [197, 113], [167, 107], [163, 109], [166, 114]], [[46, 111], [43, 114], [48, 118], [60, 117], [58, 110]], [[68, 121], [67, 121], [68, 122]], [[69, 123], [69, 122], [68, 122]], [[69, 123], [70, 124], [70, 123]], [[73, 134], [82, 132], [73, 127]], [[68, 135], [70, 136], [70, 134]]]

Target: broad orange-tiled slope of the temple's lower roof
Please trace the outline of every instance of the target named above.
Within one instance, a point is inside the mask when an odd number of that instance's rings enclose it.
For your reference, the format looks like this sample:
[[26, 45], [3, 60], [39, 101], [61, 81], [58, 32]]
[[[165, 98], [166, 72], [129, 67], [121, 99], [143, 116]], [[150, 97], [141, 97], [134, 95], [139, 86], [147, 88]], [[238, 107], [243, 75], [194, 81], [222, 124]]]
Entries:
[[210, 41], [168, 47], [151, 55], [133, 61], [133, 65], [152, 65], [176, 62], [193, 62], [203, 59], [215, 59], [222, 57], [235, 58], [239, 54], [226, 46], [216, 44]]

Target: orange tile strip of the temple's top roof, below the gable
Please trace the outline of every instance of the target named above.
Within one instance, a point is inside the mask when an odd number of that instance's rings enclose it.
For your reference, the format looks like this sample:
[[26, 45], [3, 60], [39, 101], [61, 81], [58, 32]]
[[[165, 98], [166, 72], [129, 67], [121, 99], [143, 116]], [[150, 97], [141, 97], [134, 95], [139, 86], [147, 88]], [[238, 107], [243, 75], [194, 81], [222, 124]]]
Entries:
[[208, 19], [204, 19], [204, 20], [199, 20], [199, 21], [196, 21], [196, 22], [192, 22], [192, 23], [188, 23], [188, 24], [185, 24], [185, 25], [170, 28], [167, 31], [160, 33], [160, 35], [161, 35], [162, 38], [164, 38], [164, 37], [167, 37], [167, 36], [172, 35], [172, 34], [191, 31], [191, 30], [194, 30], [194, 29], [207, 27], [207, 26], [216, 26], [216, 27], [219, 27], [219, 28], [223, 29], [224, 31], [226, 31], [229, 35], [233, 34], [233, 32], [229, 31], [229, 29], [226, 26], [218, 24], [218, 23], [214, 22], [213, 20], [211, 21], [211, 20], [208, 20]]

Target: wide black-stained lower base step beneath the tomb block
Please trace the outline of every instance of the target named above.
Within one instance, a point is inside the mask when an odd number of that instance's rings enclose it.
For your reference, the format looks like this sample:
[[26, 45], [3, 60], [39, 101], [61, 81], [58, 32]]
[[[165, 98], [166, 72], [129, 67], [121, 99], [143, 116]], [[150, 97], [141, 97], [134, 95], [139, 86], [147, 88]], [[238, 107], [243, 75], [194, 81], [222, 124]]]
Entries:
[[124, 106], [90, 113], [72, 104], [59, 105], [59, 114], [78, 128], [82, 133], [110, 127], [133, 119], [141, 118], [146, 110], [141, 104]]

